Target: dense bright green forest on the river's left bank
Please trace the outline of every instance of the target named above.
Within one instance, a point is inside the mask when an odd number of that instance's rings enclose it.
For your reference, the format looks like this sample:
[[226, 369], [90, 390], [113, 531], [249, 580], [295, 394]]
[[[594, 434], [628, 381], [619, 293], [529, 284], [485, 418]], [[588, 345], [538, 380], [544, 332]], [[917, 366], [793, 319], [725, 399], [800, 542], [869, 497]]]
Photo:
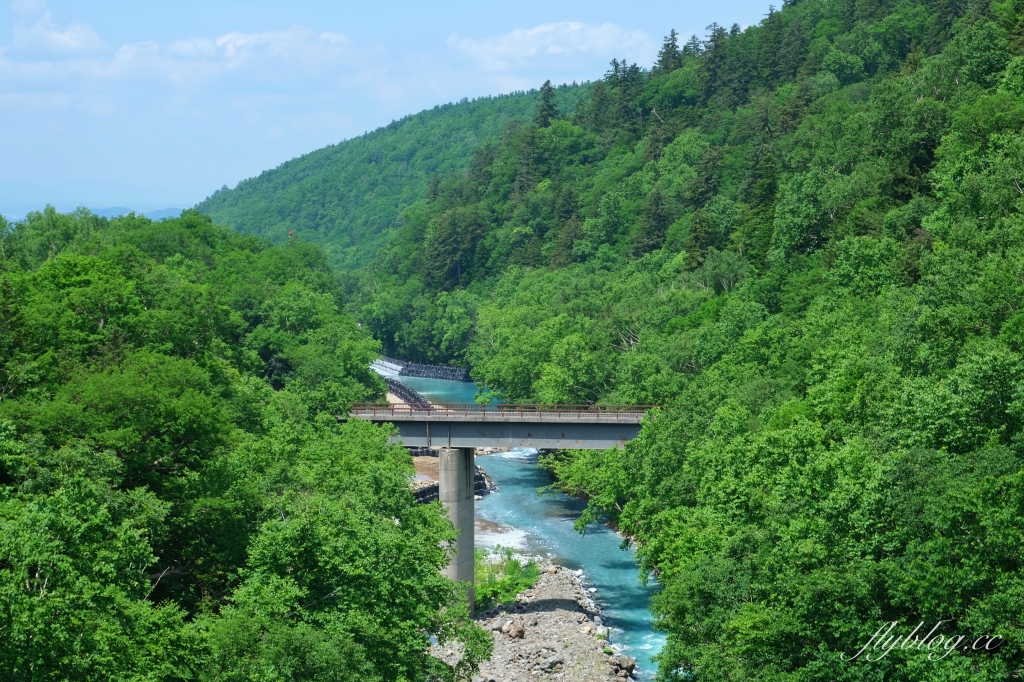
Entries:
[[380, 346], [318, 247], [47, 209], [0, 222], [0, 678], [455, 680], [488, 654], [408, 454], [338, 423], [382, 395]]

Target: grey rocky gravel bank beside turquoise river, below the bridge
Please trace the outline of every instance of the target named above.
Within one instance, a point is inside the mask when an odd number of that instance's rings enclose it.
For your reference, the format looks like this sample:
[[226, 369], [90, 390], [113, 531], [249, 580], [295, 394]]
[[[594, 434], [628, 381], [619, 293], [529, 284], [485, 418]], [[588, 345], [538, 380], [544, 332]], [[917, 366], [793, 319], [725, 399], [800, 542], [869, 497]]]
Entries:
[[[476, 621], [492, 633], [495, 651], [474, 682], [631, 681], [635, 660], [609, 641], [592, 589], [582, 571], [548, 565], [514, 604], [479, 613]], [[451, 648], [435, 653], [450, 662], [459, 655]]]

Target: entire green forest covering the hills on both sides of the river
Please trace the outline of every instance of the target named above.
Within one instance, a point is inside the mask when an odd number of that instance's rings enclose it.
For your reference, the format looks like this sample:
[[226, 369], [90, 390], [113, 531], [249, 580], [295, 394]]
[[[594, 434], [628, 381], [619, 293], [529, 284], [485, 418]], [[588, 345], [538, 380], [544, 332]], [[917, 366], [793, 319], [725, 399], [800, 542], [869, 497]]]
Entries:
[[[663, 682], [1024, 675], [1024, 2], [786, 2], [517, 97], [201, 205], [248, 237], [2, 225], [7, 677], [486, 655], [408, 457], [333, 418], [379, 350], [660, 406], [545, 465], [663, 586]], [[848, 659], [891, 622], [949, 639]]]

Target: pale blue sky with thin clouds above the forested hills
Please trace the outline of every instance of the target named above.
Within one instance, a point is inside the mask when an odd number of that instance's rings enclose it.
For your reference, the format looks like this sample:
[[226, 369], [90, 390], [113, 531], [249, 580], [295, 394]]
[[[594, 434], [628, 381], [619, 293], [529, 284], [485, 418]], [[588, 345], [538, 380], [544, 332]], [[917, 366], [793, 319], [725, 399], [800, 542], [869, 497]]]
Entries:
[[642, 66], [768, 4], [14, 0], [0, 7], [0, 213], [191, 206], [462, 97]]

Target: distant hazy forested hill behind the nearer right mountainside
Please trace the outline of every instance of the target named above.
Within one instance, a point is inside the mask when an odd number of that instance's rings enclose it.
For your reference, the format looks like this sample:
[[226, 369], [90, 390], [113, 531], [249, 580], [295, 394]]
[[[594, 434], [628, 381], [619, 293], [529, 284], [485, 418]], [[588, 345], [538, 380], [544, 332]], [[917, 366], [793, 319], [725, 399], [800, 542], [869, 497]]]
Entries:
[[[562, 86], [557, 97], [569, 105], [586, 91]], [[197, 208], [218, 224], [278, 244], [294, 231], [319, 244], [335, 267], [365, 265], [435, 176], [465, 168], [509, 121], [532, 116], [536, 101], [532, 91], [435, 106], [225, 186]]]

